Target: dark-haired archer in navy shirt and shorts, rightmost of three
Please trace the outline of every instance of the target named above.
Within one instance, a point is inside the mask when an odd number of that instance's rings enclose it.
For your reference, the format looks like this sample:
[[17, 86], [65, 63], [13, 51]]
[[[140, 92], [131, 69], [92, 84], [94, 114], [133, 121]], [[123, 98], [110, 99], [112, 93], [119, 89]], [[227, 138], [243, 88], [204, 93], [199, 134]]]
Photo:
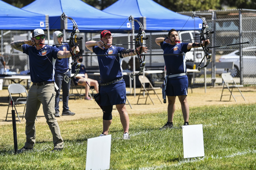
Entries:
[[[182, 114], [184, 118], [184, 125], [188, 125], [189, 106], [187, 102], [188, 91], [188, 77], [187, 68], [185, 63], [185, 55], [178, 55], [187, 53], [191, 48], [201, 47], [200, 43], [180, 43], [179, 35], [175, 29], [168, 32], [168, 37], [159, 37], [155, 40], [156, 44], [161, 46], [164, 54], [177, 54], [177, 55], [164, 55], [164, 62], [167, 73], [166, 83], [166, 96], [168, 98], [168, 121], [160, 128], [173, 128], [173, 115], [175, 111], [176, 96], [178, 96]], [[202, 45], [209, 44], [209, 40], [202, 42]]]

